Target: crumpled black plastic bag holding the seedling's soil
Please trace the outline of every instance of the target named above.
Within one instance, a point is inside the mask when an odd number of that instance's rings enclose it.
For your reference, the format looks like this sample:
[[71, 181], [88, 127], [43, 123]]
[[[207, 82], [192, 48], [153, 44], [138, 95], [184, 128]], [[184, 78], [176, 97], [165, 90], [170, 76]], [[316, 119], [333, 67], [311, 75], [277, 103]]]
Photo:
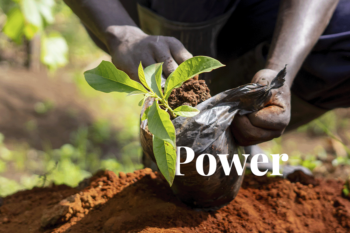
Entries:
[[[202, 209], [222, 206], [236, 197], [243, 181], [243, 175], [238, 175], [235, 166], [231, 167], [230, 175], [225, 175], [219, 156], [227, 156], [231, 165], [234, 154], [238, 154], [241, 165], [244, 164], [244, 148], [235, 143], [230, 129], [236, 114], [245, 115], [258, 111], [265, 106], [271, 97], [271, 89], [280, 88], [285, 79], [286, 68], [278, 73], [268, 85], [249, 83], [237, 88], [226, 90], [198, 104], [200, 113], [194, 117], [176, 117], [172, 120], [176, 131], [176, 146], [190, 147], [195, 158], [181, 164], [183, 176], [175, 175], [172, 190], [185, 204]], [[152, 105], [154, 99], [146, 99], [141, 111]], [[152, 136], [145, 130], [147, 119], [141, 122], [140, 138], [144, 154], [156, 162], [153, 154]], [[196, 159], [201, 154], [212, 154], [216, 158], [216, 171], [213, 175], [202, 176], [196, 170]], [[180, 151], [180, 162], [186, 160], [186, 150]], [[203, 170], [209, 171], [209, 158], [204, 156]]]

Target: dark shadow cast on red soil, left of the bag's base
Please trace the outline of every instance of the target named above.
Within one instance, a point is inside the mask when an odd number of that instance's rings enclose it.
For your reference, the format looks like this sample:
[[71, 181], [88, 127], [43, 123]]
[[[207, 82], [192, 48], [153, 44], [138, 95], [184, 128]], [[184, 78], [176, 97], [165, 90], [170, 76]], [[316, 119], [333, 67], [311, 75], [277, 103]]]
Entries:
[[[214, 213], [213, 213], [214, 214]], [[169, 185], [149, 176], [124, 188], [80, 221], [59, 232], [134, 232], [146, 227], [196, 227], [209, 216], [180, 202]]]

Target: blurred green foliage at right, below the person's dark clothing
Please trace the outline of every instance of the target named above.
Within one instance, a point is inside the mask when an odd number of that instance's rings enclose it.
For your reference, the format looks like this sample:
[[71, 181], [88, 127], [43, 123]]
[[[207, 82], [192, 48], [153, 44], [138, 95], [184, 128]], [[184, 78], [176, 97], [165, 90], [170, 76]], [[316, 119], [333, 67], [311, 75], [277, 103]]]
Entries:
[[[282, 137], [275, 138], [266, 143], [263, 146], [263, 150], [267, 154], [281, 154], [285, 153], [286, 148], [288, 148], [289, 159], [285, 163], [289, 165], [302, 165], [311, 171], [317, 170], [318, 172], [325, 173], [327, 170], [325, 167], [326, 164], [329, 165], [328, 169], [330, 166], [332, 169], [339, 166], [349, 167], [350, 150], [349, 144], [345, 143], [345, 141], [350, 141], [350, 134], [346, 134], [349, 132], [348, 129], [350, 129], [349, 111], [343, 109], [341, 112], [343, 114], [339, 114], [339, 109], [328, 111], [308, 124], [300, 126], [294, 132], [296, 135], [294, 140], [288, 140], [284, 143], [285, 135], [282, 135]], [[345, 138], [341, 139], [338, 136], [338, 132], [343, 132]], [[318, 143], [314, 148], [310, 148], [307, 153], [301, 153], [298, 141], [310, 140], [311, 138], [317, 138], [320, 142], [322, 142], [322, 139], [328, 139], [329, 145], [326, 147], [326, 145]], [[338, 151], [334, 150], [331, 139], [339, 142], [339, 146], [346, 152], [346, 155], [338, 154]], [[329, 151], [330, 149], [331, 151]]]

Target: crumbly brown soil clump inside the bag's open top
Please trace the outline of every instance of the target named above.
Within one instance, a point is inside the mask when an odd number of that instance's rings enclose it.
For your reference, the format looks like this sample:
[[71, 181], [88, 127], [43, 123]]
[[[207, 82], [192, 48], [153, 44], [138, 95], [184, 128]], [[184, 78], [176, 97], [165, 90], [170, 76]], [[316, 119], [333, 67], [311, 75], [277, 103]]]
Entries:
[[175, 88], [168, 98], [168, 104], [172, 109], [181, 105], [196, 105], [211, 97], [209, 88], [204, 80], [190, 79], [179, 88]]

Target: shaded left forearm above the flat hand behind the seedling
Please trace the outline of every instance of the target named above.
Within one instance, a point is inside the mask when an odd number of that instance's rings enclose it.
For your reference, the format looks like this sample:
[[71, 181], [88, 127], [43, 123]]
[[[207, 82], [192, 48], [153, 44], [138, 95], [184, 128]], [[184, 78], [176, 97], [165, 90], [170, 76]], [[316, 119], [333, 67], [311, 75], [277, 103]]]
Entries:
[[107, 47], [109, 26], [137, 26], [118, 0], [63, 0]]

